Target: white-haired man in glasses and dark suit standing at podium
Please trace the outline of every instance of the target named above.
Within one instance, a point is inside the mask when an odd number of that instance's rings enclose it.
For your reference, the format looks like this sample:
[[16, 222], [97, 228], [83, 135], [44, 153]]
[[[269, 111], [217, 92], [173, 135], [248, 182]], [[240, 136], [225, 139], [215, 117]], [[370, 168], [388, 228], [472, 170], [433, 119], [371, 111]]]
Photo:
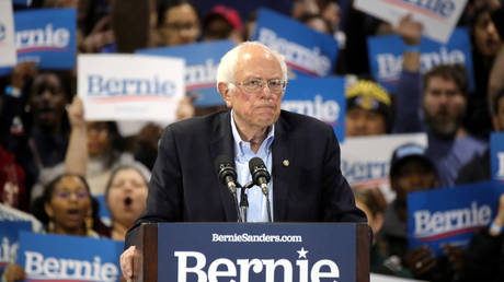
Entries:
[[[219, 184], [214, 162], [233, 160], [238, 183], [250, 179], [249, 161], [261, 157], [272, 179], [274, 222], [367, 222], [340, 171], [340, 146], [331, 126], [280, 110], [287, 86], [284, 58], [247, 42], [228, 51], [217, 70], [217, 89], [229, 109], [174, 122], [160, 140], [144, 222], [237, 222], [231, 193]], [[247, 222], [266, 222], [266, 198], [248, 189]], [[121, 266], [133, 280], [133, 228]]]

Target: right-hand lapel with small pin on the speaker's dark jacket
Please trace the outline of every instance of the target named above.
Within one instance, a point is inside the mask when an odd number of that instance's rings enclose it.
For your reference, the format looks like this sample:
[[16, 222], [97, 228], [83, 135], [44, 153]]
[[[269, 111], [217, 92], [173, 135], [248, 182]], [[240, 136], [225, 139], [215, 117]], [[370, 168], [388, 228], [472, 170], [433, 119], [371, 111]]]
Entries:
[[[289, 188], [296, 185], [293, 177], [296, 160], [296, 140], [289, 139], [289, 125], [280, 117], [275, 124], [275, 139], [273, 141], [273, 218], [274, 221], [287, 221], [287, 199]], [[285, 162], [285, 163], [284, 163]], [[288, 163], [287, 163], [288, 162]]]

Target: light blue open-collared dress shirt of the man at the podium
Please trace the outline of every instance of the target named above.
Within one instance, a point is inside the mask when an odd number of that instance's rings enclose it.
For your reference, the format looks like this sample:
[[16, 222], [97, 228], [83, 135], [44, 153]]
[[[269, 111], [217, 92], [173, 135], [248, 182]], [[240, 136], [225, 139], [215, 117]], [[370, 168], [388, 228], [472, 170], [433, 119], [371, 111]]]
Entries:
[[[270, 175], [272, 174], [272, 143], [274, 139], [275, 125], [270, 128], [266, 139], [259, 148], [257, 154], [255, 154], [251, 148], [250, 142], [245, 142], [241, 139], [238, 133], [234, 118], [231, 110], [231, 130], [234, 140], [234, 165], [237, 167], [238, 183], [241, 186], [245, 186], [252, 180], [252, 176], [249, 171], [249, 161], [254, 157], [261, 157], [266, 165]], [[270, 209], [273, 215], [273, 176], [267, 184], [268, 197], [270, 197]], [[266, 197], [261, 191], [261, 188], [256, 185], [245, 190], [249, 200], [249, 210], [247, 212], [247, 222], [267, 222], [267, 209], [266, 209]], [[238, 202], [240, 202], [241, 189], [237, 189]]]

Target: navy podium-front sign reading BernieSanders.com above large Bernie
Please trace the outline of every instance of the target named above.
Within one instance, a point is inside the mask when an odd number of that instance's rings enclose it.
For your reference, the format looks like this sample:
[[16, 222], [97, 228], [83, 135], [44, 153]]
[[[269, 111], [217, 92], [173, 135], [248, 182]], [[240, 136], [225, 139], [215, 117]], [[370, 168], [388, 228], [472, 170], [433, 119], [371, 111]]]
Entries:
[[355, 224], [159, 224], [158, 277], [165, 281], [356, 281], [355, 234]]

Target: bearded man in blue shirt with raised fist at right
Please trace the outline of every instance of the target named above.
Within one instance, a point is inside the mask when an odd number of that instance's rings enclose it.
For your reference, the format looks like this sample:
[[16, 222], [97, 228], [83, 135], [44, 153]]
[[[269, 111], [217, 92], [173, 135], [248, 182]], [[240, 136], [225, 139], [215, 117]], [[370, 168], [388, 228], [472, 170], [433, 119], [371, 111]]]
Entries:
[[422, 82], [421, 32], [422, 25], [410, 15], [401, 19], [398, 33], [406, 49], [396, 95], [393, 132], [426, 132], [426, 155], [436, 165], [440, 186], [450, 187], [460, 167], [481, 155], [488, 145], [462, 126], [469, 89], [463, 66], [438, 64], [423, 75]]

